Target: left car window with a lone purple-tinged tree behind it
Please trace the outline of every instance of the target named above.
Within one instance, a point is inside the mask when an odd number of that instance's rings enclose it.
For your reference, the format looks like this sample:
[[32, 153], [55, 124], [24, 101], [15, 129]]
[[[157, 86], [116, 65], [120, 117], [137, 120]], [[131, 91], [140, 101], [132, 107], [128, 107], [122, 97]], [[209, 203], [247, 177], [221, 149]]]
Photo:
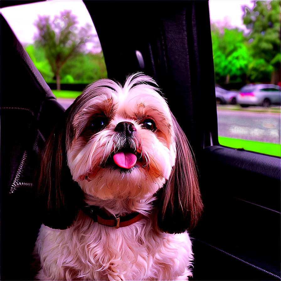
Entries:
[[11, 6], [1, 13], [65, 108], [87, 84], [107, 77], [96, 29], [81, 0]]

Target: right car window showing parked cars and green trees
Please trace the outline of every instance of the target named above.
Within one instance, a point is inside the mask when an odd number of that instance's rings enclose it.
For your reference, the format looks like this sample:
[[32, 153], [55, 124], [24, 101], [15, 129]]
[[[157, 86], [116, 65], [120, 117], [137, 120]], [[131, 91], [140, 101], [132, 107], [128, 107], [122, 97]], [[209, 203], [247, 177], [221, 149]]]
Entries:
[[210, 0], [209, 12], [215, 83], [228, 91], [216, 87], [219, 143], [280, 156], [280, 1]]

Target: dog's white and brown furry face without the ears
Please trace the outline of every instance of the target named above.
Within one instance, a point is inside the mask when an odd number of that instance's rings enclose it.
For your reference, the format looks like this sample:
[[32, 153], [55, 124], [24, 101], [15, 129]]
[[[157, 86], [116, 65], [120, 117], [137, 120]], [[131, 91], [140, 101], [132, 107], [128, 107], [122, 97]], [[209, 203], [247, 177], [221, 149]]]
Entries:
[[142, 199], [170, 177], [176, 146], [166, 101], [147, 84], [90, 85], [69, 118], [67, 160], [73, 180], [99, 199]]

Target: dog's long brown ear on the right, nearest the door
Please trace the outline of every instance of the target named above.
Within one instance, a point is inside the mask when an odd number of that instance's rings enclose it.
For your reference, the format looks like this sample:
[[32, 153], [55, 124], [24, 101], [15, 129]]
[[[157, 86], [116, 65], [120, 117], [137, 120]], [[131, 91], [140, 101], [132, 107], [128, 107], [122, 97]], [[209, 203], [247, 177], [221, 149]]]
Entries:
[[160, 190], [157, 223], [167, 233], [191, 231], [203, 211], [196, 165], [188, 140], [172, 115], [176, 137], [176, 162], [166, 186]]

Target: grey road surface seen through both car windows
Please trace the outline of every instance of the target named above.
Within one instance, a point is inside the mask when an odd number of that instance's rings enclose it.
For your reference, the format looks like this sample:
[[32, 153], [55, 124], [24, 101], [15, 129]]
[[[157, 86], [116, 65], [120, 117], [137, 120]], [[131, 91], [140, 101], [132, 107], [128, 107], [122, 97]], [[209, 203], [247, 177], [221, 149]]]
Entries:
[[[57, 99], [66, 109], [73, 99]], [[236, 108], [237, 109], [237, 108]], [[253, 108], [249, 108], [252, 110]], [[260, 110], [260, 108], [254, 108]], [[218, 114], [218, 132], [220, 136], [280, 143], [280, 114], [267, 112], [251, 112], [248, 109], [231, 110], [220, 106]]]

